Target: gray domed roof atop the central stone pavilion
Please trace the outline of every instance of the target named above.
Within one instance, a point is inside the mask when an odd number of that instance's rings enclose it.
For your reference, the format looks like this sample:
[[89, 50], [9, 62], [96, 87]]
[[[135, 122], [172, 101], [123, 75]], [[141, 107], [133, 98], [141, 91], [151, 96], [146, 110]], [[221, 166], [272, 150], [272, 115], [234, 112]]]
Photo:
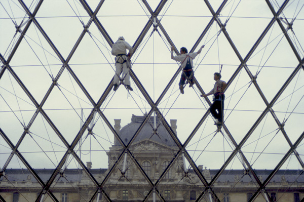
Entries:
[[[130, 142], [145, 117], [145, 115], [136, 116], [132, 114], [131, 123], [124, 126], [120, 130], [119, 136], [126, 145]], [[143, 126], [133, 143], [140, 142], [142, 140], [151, 140], [166, 146], [176, 146], [175, 142], [173, 141], [168, 131], [165, 129], [164, 125], [160, 123], [160, 119], [156, 117], [156, 126], [158, 126], [158, 124], [160, 124], [160, 126], [157, 128], [156, 134], [154, 134], [154, 117], [150, 117], [150, 120], [148, 120], [148, 122]], [[115, 139], [114, 144], [121, 146], [117, 139]]]

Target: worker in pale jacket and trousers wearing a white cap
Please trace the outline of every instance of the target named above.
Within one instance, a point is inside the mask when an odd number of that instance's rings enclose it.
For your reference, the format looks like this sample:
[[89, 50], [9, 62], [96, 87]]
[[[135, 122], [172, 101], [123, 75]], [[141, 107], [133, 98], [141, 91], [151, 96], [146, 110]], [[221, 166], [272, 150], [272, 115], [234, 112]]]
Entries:
[[[127, 49], [129, 50], [128, 55]], [[127, 65], [127, 61], [130, 60], [130, 57], [133, 53], [132, 47], [125, 41], [123, 36], [120, 36], [112, 46], [112, 55], [115, 55], [115, 66], [116, 66], [116, 73], [114, 76], [114, 88], [113, 91], [116, 91], [120, 85], [120, 80], [124, 81], [124, 85], [130, 91], [133, 89], [130, 86], [130, 74], [129, 70], [131, 65]], [[124, 77], [120, 78], [121, 73], [124, 73]]]

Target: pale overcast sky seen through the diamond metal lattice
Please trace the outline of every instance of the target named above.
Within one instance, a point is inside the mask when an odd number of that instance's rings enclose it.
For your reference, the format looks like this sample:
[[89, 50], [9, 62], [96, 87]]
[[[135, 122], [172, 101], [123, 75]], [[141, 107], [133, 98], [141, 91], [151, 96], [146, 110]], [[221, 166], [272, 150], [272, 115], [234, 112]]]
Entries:
[[[33, 12], [36, 1], [24, 1]], [[97, 1], [87, 1], [94, 11]], [[283, 1], [271, 1], [277, 11]], [[154, 11], [159, 1], [148, 1]], [[31, 5], [32, 4], [32, 5]], [[217, 11], [221, 1], [210, 1]], [[293, 22], [292, 30], [286, 34], [291, 38], [297, 54], [303, 58], [304, 12], [303, 2], [290, 1], [280, 17], [286, 28], [286, 20]], [[233, 44], [244, 59], [251, 50], [262, 31], [273, 18], [273, 14], [265, 1], [228, 1], [218, 16], [222, 23], [226, 22], [226, 31]], [[105, 1], [97, 14], [97, 18], [113, 42], [124, 36], [130, 45], [134, 45], [143, 27], [150, 18], [148, 10], [141, 1]], [[160, 12], [158, 19], [172, 42], [179, 50], [186, 47], [191, 51], [201, 33], [212, 19], [212, 15], [204, 1], [168, 1]], [[15, 24], [27, 22], [28, 17], [18, 1], [1, 1], [0, 4], [0, 53], [7, 60], [20, 37]], [[80, 37], [84, 27], [90, 20], [87, 12], [77, 1], [44, 1], [36, 14], [36, 20], [56, 46], [61, 56], [66, 59]], [[23, 29], [25, 25], [21, 27]], [[92, 99], [97, 102], [115, 73], [114, 57], [111, 47], [106, 42], [94, 23], [88, 28], [77, 50], [68, 64], [81, 81]], [[221, 71], [222, 80], [229, 82], [225, 95], [224, 122], [239, 144], [265, 110], [267, 105], [261, 98], [257, 88], [245, 68], [242, 68], [234, 79], [234, 72], [241, 64], [226, 36], [220, 31], [216, 22], [202, 38], [198, 48], [205, 45], [201, 54], [194, 60], [195, 76], [198, 83], [207, 93], [214, 85], [213, 73]], [[198, 51], [198, 48], [194, 52]], [[142, 43], [132, 57], [132, 69], [151, 99], [157, 101], [170, 79], [179, 67], [171, 60], [170, 45], [164, 33], [158, 28], [153, 32], [151, 27]], [[3, 62], [0, 63], [1, 66]], [[261, 43], [246, 63], [256, 81], [262, 95], [270, 103], [279, 92], [288, 77], [299, 65], [286, 37], [277, 22], [265, 34]], [[50, 86], [62, 67], [62, 62], [54, 53], [39, 29], [31, 23], [22, 42], [10, 60], [9, 65], [21, 82], [28, 89], [37, 103], [45, 98]], [[220, 69], [222, 65], [222, 69]], [[195, 86], [180, 94], [178, 89], [180, 75], [162, 99], [158, 108], [168, 123], [177, 119], [177, 137], [184, 143], [193, 132], [200, 119], [209, 108], [207, 102], [200, 97]], [[121, 126], [131, 123], [132, 114], [143, 115], [151, 107], [131, 79], [133, 92], [120, 86], [117, 92], [111, 91], [101, 106], [110, 124], [114, 119], [121, 119]], [[299, 70], [290, 84], [283, 91], [273, 106], [280, 123], [292, 144], [303, 133], [304, 126], [304, 76]], [[6, 69], [0, 78], [0, 128], [16, 145], [24, 126], [30, 122], [36, 107], [16, 82], [14, 76]], [[208, 97], [212, 101], [212, 96]], [[65, 69], [47, 101], [42, 107], [60, 133], [70, 144], [78, 134], [83, 122], [92, 110], [92, 104]], [[82, 160], [92, 161], [93, 168], [107, 168], [105, 150], [113, 144], [114, 136], [96, 115], [94, 119], [95, 138], [86, 135], [82, 141]], [[209, 115], [187, 145], [187, 151], [197, 165], [210, 169], [219, 169], [225, 159], [235, 149], [226, 132], [215, 133], [216, 127]], [[242, 151], [254, 169], [274, 169], [281, 158], [290, 149], [286, 138], [274, 116], [267, 113], [248, 138]], [[33, 168], [55, 168], [66, 151], [65, 145], [57, 137], [52, 127], [39, 113], [35, 118], [30, 135], [26, 135], [18, 150]], [[79, 143], [80, 144], [80, 143]], [[79, 149], [79, 144], [75, 150]], [[299, 144], [297, 152], [304, 160], [304, 146]], [[0, 167], [6, 163], [11, 153], [10, 146], [0, 136]], [[70, 159], [69, 168], [79, 166]], [[8, 168], [25, 168], [14, 156]], [[243, 169], [239, 158], [231, 161], [227, 169]], [[292, 155], [282, 169], [302, 169], [298, 160]]]

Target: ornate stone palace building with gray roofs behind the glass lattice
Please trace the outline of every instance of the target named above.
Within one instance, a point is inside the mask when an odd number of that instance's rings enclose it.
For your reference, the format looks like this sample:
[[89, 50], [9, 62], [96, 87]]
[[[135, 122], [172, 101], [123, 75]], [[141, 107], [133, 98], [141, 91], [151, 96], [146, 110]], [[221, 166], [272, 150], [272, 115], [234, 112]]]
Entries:
[[[108, 168], [94, 168], [87, 162], [89, 175], [83, 169], [66, 169], [60, 171], [55, 183], [50, 186], [52, 194], [60, 202], [86, 201], [249, 201], [257, 189], [252, 175], [244, 170], [224, 170], [213, 189], [202, 184], [194, 169], [185, 166], [186, 160], [181, 152], [172, 160], [176, 147], [169, 138], [162, 124], [153, 130], [154, 118], [141, 126], [145, 116], [133, 115], [131, 123], [120, 130], [120, 119], [116, 119], [116, 131], [127, 145], [139, 127], [141, 132], [129, 147], [133, 156], [122, 152], [118, 140], [107, 150]], [[158, 118], [156, 118], [158, 122]], [[159, 122], [158, 122], [159, 123]], [[176, 120], [171, 120], [171, 128], [175, 131]], [[176, 132], [176, 131], [175, 131]], [[124, 153], [121, 158], [118, 155]], [[116, 161], [116, 159], [120, 159]], [[141, 165], [138, 168], [137, 164]], [[199, 165], [202, 176], [211, 182], [219, 170], [212, 170]], [[36, 169], [45, 182], [54, 170]], [[271, 170], [254, 170], [263, 182]], [[254, 201], [299, 202], [304, 197], [304, 177], [301, 170], [279, 170], [269, 183], [267, 190], [262, 190]], [[90, 175], [104, 185], [96, 192], [96, 185]], [[155, 188], [151, 186], [155, 184]], [[263, 192], [264, 191], [264, 192]], [[53, 201], [50, 195], [41, 192], [41, 186], [26, 169], [7, 169], [0, 180], [0, 192], [7, 202]], [[268, 195], [267, 195], [268, 194]], [[93, 199], [92, 199], [93, 196]]]

